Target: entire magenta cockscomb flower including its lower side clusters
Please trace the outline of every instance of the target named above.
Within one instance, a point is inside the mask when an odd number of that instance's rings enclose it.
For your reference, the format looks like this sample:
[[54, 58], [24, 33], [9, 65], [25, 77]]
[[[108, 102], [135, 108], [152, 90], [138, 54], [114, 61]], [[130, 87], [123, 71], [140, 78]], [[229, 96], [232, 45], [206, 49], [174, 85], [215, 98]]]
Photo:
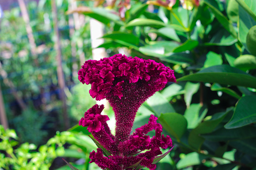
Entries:
[[[86, 61], [78, 72], [78, 79], [92, 85], [89, 92], [93, 98], [106, 98], [110, 102], [116, 118], [115, 136], [106, 123], [108, 116], [101, 115], [103, 105], [93, 106], [79, 121], [79, 125], [88, 127], [95, 139], [112, 154], [104, 157], [98, 149], [97, 153], [90, 154], [92, 161], [103, 169], [132, 169], [130, 166], [138, 161], [140, 165], [155, 169], [152, 162], [161, 154], [160, 148], [172, 146], [170, 137], [161, 135], [162, 127], [156, 122], [157, 118], [151, 115], [148, 124], [130, 133], [141, 104], [167, 82], [176, 82], [174, 71], [153, 60], [117, 54], [100, 61]], [[150, 138], [146, 134], [153, 129], [156, 135]], [[139, 153], [145, 149], [149, 151]]]

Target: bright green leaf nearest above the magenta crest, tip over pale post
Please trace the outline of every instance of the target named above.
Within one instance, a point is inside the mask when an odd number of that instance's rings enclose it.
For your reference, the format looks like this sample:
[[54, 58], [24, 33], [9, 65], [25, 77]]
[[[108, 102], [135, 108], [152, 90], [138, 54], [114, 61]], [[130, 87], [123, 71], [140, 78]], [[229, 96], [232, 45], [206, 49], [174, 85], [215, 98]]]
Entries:
[[130, 44], [138, 45], [139, 38], [133, 34], [123, 32], [112, 32], [111, 34], [105, 34], [102, 38], [108, 38], [111, 40], [121, 40]]

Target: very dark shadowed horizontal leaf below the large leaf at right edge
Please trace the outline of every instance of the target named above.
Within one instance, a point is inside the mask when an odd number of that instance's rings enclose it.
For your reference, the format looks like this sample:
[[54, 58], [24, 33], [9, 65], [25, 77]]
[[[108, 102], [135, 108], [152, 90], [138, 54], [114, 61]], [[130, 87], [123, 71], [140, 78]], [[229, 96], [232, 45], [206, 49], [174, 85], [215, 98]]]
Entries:
[[220, 128], [202, 136], [211, 141], [241, 140], [256, 137], [256, 127], [244, 126], [235, 129]]

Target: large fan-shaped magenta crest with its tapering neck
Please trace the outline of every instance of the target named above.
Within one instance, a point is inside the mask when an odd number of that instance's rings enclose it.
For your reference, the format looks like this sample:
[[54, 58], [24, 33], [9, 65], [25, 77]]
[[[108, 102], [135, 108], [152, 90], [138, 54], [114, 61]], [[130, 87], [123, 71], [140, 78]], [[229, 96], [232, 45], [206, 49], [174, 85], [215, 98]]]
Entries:
[[93, 98], [109, 100], [117, 121], [117, 142], [128, 139], [141, 104], [167, 82], [176, 82], [174, 71], [162, 63], [121, 54], [86, 61], [78, 72], [78, 79], [92, 85]]

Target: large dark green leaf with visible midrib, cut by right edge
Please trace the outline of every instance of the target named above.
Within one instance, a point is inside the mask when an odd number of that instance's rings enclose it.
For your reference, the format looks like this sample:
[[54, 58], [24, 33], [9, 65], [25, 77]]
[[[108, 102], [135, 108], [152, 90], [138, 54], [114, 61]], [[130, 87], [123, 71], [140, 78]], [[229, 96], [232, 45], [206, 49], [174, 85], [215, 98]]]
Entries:
[[256, 122], [255, 101], [256, 96], [242, 97], [235, 107], [232, 118], [224, 127], [226, 129], [232, 129]]

